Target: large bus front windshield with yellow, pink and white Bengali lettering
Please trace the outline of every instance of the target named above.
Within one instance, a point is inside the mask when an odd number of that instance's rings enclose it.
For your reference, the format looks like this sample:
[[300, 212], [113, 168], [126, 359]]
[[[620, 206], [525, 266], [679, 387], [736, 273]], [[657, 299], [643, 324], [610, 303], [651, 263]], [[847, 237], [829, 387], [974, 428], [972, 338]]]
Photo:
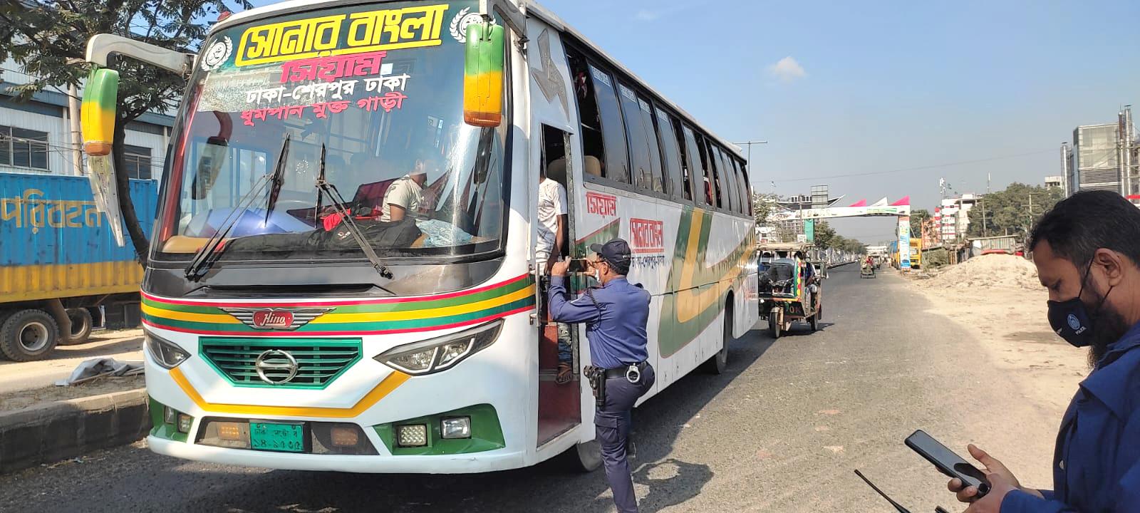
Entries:
[[223, 261], [361, 259], [344, 213], [385, 258], [500, 249], [505, 129], [463, 122], [475, 3], [356, 5], [213, 34], [166, 177], [160, 258], [188, 260], [230, 226]]

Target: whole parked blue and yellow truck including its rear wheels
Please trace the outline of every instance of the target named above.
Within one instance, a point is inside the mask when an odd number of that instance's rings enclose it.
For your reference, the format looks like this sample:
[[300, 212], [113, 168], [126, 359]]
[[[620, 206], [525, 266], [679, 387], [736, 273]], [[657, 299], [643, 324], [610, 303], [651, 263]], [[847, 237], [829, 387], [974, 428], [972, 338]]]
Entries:
[[[149, 234], [153, 180], [131, 180]], [[120, 246], [83, 177], [0, 172], [0, 357], [46, 358], [85, 342], [106, 323], [103, 306], [139, 302], [142, 268]]]

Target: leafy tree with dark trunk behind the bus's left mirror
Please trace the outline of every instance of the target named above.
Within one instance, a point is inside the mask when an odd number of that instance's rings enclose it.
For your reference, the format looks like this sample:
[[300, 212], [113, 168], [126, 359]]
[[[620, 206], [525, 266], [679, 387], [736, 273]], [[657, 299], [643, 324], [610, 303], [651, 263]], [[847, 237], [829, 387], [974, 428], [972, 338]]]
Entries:
[[[90, 66], [74, 63], [83, 60], [88, 39], [100, 33], [196, 52], [210, 27], [206, 19], [230, 10], [231, 1], [253, 7], [247, 0], [0, 0], [0, 60], [10, 57], [33, 79], [9, 89], [27, 100], [46, 88], [80, 85]], [[172, 112], [186, 79], [128, 58], [113, 58], [108, 66], [120, 72], [112, 147], [119, 206], [135, 253], [146, 263], [147, 239], [123, 172], [123, 137], [127, 124], [144, 113]]]

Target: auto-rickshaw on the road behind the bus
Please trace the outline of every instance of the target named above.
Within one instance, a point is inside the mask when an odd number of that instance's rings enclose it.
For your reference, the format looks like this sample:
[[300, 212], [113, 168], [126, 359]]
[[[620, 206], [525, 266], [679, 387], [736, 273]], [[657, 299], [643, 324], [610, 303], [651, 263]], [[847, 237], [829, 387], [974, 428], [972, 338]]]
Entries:
[[797, 320], [808, 323], [813, 332], [820, 328], [823, 317], [822, 279], [825, 275], [808, 261], [808, 247], [811, 244], [760, 247], [760, 254], [769, 252], [774, 255], [759, 272], [760, 318], [768, 321], [773, 339], [791, 329], [792, 321]]

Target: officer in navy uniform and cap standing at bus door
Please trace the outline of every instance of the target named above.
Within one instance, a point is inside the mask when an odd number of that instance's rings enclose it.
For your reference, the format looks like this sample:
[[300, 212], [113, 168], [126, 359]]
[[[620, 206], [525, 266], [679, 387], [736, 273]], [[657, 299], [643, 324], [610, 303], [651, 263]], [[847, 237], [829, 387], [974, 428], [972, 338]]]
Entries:
[[646, 361], [650, 294], [626, 280], [632, 261], [628, 243], [616, 238], [604, 245], [592, 244], [589, 250], [596, 253], [588, 261], [589, 268], [602, 286], [587, 288], [581, 298], [569, 301], [569, 261], [555, 263], [551, 268], [551, 317], [561, 323], [586, 323], [591, 360], [598, 373], [604, 373], [604, 377], [598, 375], [595, 388], [604, 404], [594, 413], [594, 427], [602, 446], [605, 478], [618, 511], [636, 512], [637, 496], [626, 448], [634, 404], [657, 378]]

